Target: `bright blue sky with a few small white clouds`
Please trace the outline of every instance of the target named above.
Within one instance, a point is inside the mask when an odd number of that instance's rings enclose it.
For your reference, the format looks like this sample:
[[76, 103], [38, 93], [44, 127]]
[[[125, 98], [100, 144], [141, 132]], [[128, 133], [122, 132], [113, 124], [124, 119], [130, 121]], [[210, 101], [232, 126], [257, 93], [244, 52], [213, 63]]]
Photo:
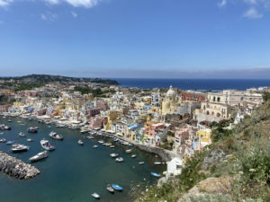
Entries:
[[0, 0], [0, 69], [270, 78], [270, 0]]

